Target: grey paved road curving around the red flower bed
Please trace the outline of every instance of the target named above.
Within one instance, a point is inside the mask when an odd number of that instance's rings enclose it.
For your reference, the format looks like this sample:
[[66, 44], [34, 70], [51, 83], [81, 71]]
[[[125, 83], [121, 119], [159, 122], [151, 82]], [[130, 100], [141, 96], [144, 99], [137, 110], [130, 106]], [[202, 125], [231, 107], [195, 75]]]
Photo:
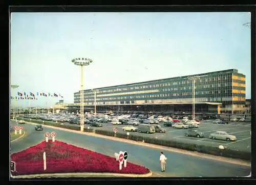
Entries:
[[[16, 124], [11, 121], [11, 124]], [[24, 124], [26, 137], [11, 143], [11, 153], [15, 153], [44, 140], [46, 131], [52, 128], [44, 127], [44, 131], [34, 130], [34, 125]], [[159, 177], [236, 177], [246, 176], [250, 173], [249, 166], [220, 162], [206, 158], [191, 156], [182, 153], [163, 150], [168, 158], [166, 172], [160, 172], [159, 150], [131, 143], [124, 143], [109, 139], [97, 138], [82, 134], [71, 133], [65, 130], [55, 129], [56, 140], [71, 143], [79, 147], [94, 150], [113, 156], [115, 152], [129, 152], [129, 161], [146, 166], [153, 171], [153, 176]]]

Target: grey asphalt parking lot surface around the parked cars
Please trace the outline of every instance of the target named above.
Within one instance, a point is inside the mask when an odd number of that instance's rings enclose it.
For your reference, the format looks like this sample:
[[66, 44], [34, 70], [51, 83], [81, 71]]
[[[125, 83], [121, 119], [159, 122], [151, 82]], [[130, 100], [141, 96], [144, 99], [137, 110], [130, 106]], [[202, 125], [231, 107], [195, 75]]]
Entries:
[[[63, 123], [69, 124], [69, 123]], [[125, 125], [112, 125], [110, 122], [102, 123], [102, 127], [94, 127], [95, 129], [102, 130], [110, 130], [113, 131], [114, 127], [118, 129], [120, 133], [127, 133], [127, 131], [123, 131], [122, 127]], [[79, 126], [78, 124], [73, 124]], [[212, 120], [203, 120], [201, 121], [199, 128], [200, 131], [204, 133], [204, 138], [196, 138], [196, 137], [186, 137], [185, 133], [187, 129], [178, 129], [173, 127], [165, 127], [163, 126], [163, 122], [160, 122], [159, 125], [166, 128], [166, 133], [154, 133], [154, 134], [144, 134], [137, 132], [130, 132], [130, 135], [139, 135], [146, 137], [154, 137], [159, 139], [170, 139], [175, 141], [181, 141], [185, 143], [194, 143], [200, 145], [207, 146], [220, 146], [223, 145], [225, 148], [229, 148], [232, 150], [240, 150], [240, 151], [251, 151], [251, 124], [245, 122], [230, 122], [229, 124], [214, 124]], [[84, 124], [85, 127], [91, 127], [90, 125]], [[210, 133], [214, 131], [226, 131], [230, 135], [234, 135], [237, 137], [237, 141], [224, 141], [224, 140], [212, 140], [209, 139]]]

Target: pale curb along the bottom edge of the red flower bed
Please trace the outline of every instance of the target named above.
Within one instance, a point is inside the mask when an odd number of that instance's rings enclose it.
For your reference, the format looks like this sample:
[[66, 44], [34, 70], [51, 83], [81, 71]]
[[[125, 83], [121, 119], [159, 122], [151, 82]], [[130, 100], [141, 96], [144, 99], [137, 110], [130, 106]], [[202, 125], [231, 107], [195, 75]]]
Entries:
[[31, 174], [31, 175], [11, 175], [11, 178], [52, 178], [52, 177], [86, 177], [92, 175], [95, 177], [115, 176], [115, 177], [150, 177], [152, 171], [147, 174], [126, 174], [126, 173], [44, 173], [44, 174]]

